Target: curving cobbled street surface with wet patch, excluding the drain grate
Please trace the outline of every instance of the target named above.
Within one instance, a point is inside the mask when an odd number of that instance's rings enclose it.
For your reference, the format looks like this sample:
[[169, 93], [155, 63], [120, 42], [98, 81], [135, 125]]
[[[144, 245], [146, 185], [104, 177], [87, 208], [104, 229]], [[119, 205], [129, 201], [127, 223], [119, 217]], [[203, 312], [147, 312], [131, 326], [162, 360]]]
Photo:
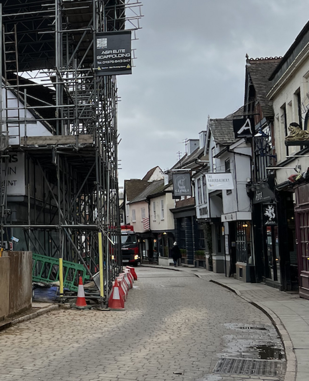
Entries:
[[0, 380], [249, 378], [213, 372], [220, 357], [268, 360], [278, 374], [250, 378], [283, 379], [284, 349], [260, 310], [190, 272], [137, 275], [125, 311], [60, 309], [0, 332]]

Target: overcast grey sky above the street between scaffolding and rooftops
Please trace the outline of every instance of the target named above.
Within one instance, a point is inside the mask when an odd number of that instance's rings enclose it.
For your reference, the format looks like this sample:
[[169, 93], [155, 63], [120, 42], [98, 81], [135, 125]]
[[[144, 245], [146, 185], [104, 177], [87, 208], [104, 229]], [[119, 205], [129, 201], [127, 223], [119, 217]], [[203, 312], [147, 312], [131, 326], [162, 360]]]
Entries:
[[142, 0], [132, 75], [119, 75], [119, 186], [185, 154], [207, 117], [244, 103], [245, 55], [283, 56], [307, 0]]

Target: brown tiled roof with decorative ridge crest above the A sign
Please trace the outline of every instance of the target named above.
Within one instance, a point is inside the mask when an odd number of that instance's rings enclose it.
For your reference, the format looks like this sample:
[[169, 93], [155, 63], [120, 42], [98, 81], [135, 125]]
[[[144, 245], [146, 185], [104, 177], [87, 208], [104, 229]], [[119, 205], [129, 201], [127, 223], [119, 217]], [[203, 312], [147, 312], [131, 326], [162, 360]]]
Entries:
[[272, 87], [269, 77], [280, 61], [281, 58], [247, 59], [247, 70], [255, 88], [256, 98], [266, 118], [274, 115], [272, 101], [267, 99], [267, 94]]

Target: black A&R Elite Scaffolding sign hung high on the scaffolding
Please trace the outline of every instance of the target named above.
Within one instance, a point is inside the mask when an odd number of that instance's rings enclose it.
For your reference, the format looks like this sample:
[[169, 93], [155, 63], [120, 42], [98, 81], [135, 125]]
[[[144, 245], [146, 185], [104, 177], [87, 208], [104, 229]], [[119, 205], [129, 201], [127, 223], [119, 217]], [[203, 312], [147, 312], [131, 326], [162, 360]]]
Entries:
[[96, 34], [97, 75], [132, 74], [131, 30]]

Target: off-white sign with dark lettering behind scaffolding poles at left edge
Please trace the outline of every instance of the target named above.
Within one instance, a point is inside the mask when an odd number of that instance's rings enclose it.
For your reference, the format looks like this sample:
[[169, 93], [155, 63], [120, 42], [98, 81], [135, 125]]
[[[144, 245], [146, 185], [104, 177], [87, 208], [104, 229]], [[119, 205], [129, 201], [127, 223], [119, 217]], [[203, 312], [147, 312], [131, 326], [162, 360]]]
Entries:
[[8, 196], [25, 195], [25, 155], [23, 153], [10, 153], [6, 172], [6, 184], [5, 180], [3, 180], [4, 176], [5, 174], [2, 173], [1, 186], [6, 185]]

